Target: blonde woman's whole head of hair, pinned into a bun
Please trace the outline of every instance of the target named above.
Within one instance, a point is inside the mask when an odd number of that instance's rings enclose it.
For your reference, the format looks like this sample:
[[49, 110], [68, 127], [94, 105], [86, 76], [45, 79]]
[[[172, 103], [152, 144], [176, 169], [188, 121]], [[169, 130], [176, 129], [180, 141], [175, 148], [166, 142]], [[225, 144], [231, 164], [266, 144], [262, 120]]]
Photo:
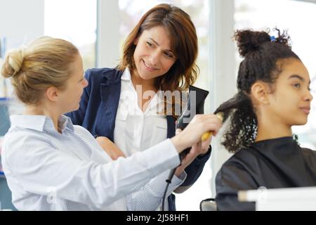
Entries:
[[70, 63], [78, 55], [77, 47], [69, 41], [41, 37], [10, 51], [1, 74], [11, 78], [14, 92], [22, 103], [36, 105], [48, 87], [65, 89], [72, 75]]

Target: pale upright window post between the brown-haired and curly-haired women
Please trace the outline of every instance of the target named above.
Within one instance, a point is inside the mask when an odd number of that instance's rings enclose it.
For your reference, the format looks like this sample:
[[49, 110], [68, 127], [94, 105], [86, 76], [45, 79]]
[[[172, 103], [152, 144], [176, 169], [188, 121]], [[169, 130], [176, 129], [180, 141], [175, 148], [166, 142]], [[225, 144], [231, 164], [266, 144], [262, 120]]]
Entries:
[[[236, 92], [235, 82], [235, 44], [232, 41], [234, 34], [234, 0], [210, 0], [209, 6], [209, 56], [211, 82], [210, 90], [213, 94], [211, 98], [211, 112], [216, 110], [220, 103], [227, 101]], [[222, 129], [223, 130], [223, 129]], [[212, 153], [209, 163], [211, 164], [211, 194], [216, 195], [215, 176], [223, 165], [223, 162], [230, 158], [223, 146], [220, 145], [220, 137], [218, 134], [212, 141]], [[206, 165], [207, 166], [207, 165]]]

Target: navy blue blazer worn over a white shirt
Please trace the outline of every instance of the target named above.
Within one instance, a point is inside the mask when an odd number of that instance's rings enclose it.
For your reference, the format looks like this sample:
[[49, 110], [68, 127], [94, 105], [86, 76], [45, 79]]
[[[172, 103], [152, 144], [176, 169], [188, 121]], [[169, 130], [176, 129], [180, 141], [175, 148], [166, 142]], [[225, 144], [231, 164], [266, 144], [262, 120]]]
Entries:
[[[114, 125], [121, 94], [122, 71], [110, 68], [86, 70], [85, 77], [88, 86], [81, 96], [79, 109], [67, 113], [73, 124], [81, 125], [88, 129], [93, 136], [106, 136], [113, 141]], [[166, 116], [167, 136], [171, 138], [176, 133], [176, 120]], [[181, 186], [191, 186], [201, 175], [205, 162], [209, 160], [211, 148], [205, 155], [198, 156], [187, 168], [187, 178]], [[176, 210], [175, 195], [168, 198], [169, 210]]]

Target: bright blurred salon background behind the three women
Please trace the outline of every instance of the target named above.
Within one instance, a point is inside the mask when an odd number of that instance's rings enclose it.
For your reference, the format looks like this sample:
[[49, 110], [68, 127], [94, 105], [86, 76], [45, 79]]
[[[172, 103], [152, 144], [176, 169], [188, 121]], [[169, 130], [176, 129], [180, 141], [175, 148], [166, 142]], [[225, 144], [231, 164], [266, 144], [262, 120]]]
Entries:
[[[232, 41], [234, 30], [287, 29], [292, 49], [310, 72], [311, 89], [316, 90], [316, 0], [0, 0], [0, 64], [8, 49], [17, 48], [43, 35], [72, 41], [81, 52], [84, 68], [114, 67], [121, 45], [140, 17], [157, 4], [174, 4], [186, 11], [197, 28], [200, 68], [196, 86], [210, 91], [206, 113], [236, 92], [240, 61]], [[316, 149], [316, 103], [308, 124], [294, 127], [301, 146]], [[1, 136], [6, 134], [8, 116], [19, 113], [12, 88], [0, 76], [0, 152]], [[218, 135], [220, 136], [220, 134]], [[230, 155], [213, 139], [211, 159], [199, 180], [185, 193], [177, 195], [177, 210], [199, 210], [199, 202], [215, 196], [214, 177]], [[11, 193], [0, 165], [2, 208], [14, 210]]]

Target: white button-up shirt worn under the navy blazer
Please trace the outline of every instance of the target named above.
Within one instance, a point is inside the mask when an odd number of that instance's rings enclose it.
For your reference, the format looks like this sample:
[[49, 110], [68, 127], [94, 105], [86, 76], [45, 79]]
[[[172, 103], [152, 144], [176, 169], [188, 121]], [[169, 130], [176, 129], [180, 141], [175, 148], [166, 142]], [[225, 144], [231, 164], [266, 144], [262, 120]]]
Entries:
[[[162, 96], [159, 96], [159, 92], [152, 96], [145, 112], [140, 109], [136, 89], [131, 81], [131, 73], [126, 68], [121, 76], [121, 94], [114, 128], [114, 143], [126, 156], [143, 152], [143, 150], [166, 140], [166, 116], [159, 115], [159, 113], [163, 112], [163, 109], [164, 101]], [[169, 173], [166, 173], [162, 183], [159, 185], [160, 187], [166, 187], [168, 176]], [[185, 172], [180, 174], [180, 177], [173, 176], [170, 189], [176, 189], [183, 183], [185, 178]], [[131, 197], [133, 195], [129, 196], [129, 198]], [[167, 209], [168, 204], [166, 203], [165, 205]]]

